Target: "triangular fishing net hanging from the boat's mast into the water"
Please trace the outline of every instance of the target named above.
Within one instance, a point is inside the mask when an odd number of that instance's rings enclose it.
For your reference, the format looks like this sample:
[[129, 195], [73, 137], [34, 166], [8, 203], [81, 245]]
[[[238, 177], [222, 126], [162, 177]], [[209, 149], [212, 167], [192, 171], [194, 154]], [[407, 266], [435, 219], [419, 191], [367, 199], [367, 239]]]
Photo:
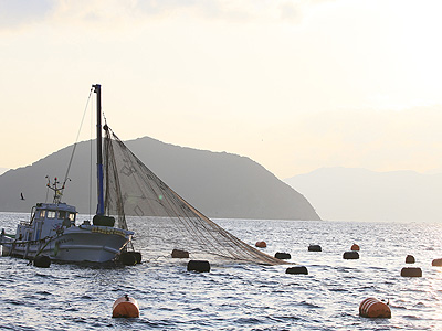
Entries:
[[149, 235], [161, 243], [162, 253], [177, 248], [191, 256], [267, 265], [285, 263], [251, 247], [209, 220], [151, 172], [107, 125], [105, 131], [105, 210], [117, 217], [120, 228], [127, 228], [125, 215], [135, 215], [151, 223], [155, 229]]

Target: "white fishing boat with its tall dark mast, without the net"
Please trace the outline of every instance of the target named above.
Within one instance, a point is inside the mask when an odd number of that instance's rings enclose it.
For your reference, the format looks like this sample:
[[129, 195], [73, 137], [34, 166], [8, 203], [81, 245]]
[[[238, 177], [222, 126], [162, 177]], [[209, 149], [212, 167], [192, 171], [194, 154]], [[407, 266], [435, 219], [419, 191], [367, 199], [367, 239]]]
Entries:
[[97, 213], [91, 221], [76, 224], [75, 206], [62, 202], [65, 182], [56, 178], [46, 186], [53, 191], [52, 203], [36, 203], [28, 222], [20, 222], [14, 235], [0, 234], [3, 256], [35, 259], [49, 256], [56, 261], [106, 263], [126, 253], [131, 245], [134, 232], [125, 221], [115, 226], [115, 217], [105, 214], [104, 172], [102, 151], [101, 85], [93, 85], [91, 92], [97, 99]]

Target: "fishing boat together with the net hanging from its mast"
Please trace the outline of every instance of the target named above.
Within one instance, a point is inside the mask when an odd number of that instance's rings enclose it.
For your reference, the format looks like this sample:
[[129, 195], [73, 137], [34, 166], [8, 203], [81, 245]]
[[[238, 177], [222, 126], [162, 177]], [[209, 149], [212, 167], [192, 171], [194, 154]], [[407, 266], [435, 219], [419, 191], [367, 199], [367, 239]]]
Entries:
[[[2, 231], [3, 255], [34, 263], [39, 256], [45, 256], [60, 261], [119, 259], [124, 265], [133, 265], [141, 256], [134, 252], [128, 215], [139, 231], [143, 254], [147, 254], [148, 260], [176, 258], [170, 252], [180, 249], [188, 253], [186, 258], [197, 260], [286, 264], [219, 226], [158, 178], [107, 122], [102, 126], [101, 85], [92, 86], [90, 98], [93, 92], [97, 100], [97, 213], [92, 224], [85, 221], [77, 225], [75, 207], [62, 202], [66, 179], [48, 181], [53, 202], [38, 203], [30, 221], [18, 225], [15, 235]], [[179, 164], [176, 166], [178, 169]]]

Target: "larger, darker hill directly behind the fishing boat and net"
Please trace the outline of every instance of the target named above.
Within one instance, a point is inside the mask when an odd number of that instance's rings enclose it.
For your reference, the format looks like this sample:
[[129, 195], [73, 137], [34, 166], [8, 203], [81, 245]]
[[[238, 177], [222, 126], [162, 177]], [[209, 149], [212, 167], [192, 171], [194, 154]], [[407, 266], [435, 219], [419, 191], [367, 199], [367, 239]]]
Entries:
[[[308, 201], [249, 158], [168, 145], [145, 137], [127, 141], [133, 152], [178, 194], [212, 217], [319, 220]], [[32, 166], [0, 175], [0, 211], [28, 212], [51, 201], [46, 175], [65, 178], [73, 146]], [[95, 143], [76, 147], [63, 201], [80, 213], [95, 211]], [[93, 183], [91, 184], [91, 178]], [[20, 200], [23, 193], [25, 200]]]

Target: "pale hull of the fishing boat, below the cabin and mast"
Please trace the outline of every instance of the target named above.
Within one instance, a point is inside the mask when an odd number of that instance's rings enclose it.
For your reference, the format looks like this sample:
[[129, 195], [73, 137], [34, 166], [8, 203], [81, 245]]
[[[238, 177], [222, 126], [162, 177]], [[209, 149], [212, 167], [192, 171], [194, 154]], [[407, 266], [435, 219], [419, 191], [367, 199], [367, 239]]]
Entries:
[[2, 255], [33, 259], [48, 255], [57, 261], [105, 263], [113, 260], [131, 239], [133, 232], [108, 226], [74, 226], [63, 234], [38, 242], [2, 237]]

